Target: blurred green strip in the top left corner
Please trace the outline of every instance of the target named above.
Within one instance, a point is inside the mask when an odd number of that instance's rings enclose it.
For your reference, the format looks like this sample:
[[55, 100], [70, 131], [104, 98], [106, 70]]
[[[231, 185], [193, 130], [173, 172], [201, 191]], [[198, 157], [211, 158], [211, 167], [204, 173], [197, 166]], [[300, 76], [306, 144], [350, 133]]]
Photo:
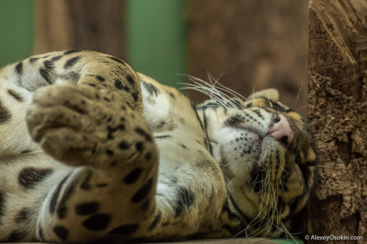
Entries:
[[33, 50], [33, 1], [0, 1], [0, 67], [25, 59]]

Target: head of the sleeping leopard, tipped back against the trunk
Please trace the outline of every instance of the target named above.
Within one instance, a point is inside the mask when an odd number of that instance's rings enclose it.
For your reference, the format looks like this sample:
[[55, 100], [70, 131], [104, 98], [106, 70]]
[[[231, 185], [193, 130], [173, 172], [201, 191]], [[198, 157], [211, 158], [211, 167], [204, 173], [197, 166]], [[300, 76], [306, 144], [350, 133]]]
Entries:
[[275, 89], [200, 106], [246, 236], [290, 234], [316, 180], [316, 144], [307, 121], [281, 104]]

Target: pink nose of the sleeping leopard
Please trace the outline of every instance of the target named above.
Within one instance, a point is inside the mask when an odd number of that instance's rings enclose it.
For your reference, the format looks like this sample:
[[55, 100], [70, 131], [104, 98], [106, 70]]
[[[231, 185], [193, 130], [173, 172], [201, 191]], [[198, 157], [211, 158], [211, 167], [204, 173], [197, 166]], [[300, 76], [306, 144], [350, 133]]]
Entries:
[[293, 141], [293, 132], [286, 116], [279, 114], [277, 119], [279, 121], [270, 125], [269, 131], [266, 135], [269, 135], [278, 141], [286, 136], [287, 142], [291, 143]]

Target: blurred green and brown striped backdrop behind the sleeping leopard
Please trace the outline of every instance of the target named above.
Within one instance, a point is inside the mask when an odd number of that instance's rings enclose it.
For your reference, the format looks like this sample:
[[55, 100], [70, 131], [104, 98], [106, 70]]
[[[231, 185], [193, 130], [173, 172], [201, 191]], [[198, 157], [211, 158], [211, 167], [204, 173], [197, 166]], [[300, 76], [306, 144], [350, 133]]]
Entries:
[[244, 97], [274, 87], [306, 116], [308, 2], [1, 0], [0, 67], [35, 53], [95, 50], [170, 86], [190, 82], [177, 73], [208, 81], [209, 72]]

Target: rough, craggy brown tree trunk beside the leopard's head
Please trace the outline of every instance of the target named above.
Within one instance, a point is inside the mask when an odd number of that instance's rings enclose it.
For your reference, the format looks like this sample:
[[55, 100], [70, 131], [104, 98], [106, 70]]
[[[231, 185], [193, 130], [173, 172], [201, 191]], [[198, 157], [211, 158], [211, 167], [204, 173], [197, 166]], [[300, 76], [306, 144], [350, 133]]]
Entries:
[[320, 168], [309, 204], [309, 243], [367, 241], [366, 68], [367, 1], [311, 0], [308, 119]]

